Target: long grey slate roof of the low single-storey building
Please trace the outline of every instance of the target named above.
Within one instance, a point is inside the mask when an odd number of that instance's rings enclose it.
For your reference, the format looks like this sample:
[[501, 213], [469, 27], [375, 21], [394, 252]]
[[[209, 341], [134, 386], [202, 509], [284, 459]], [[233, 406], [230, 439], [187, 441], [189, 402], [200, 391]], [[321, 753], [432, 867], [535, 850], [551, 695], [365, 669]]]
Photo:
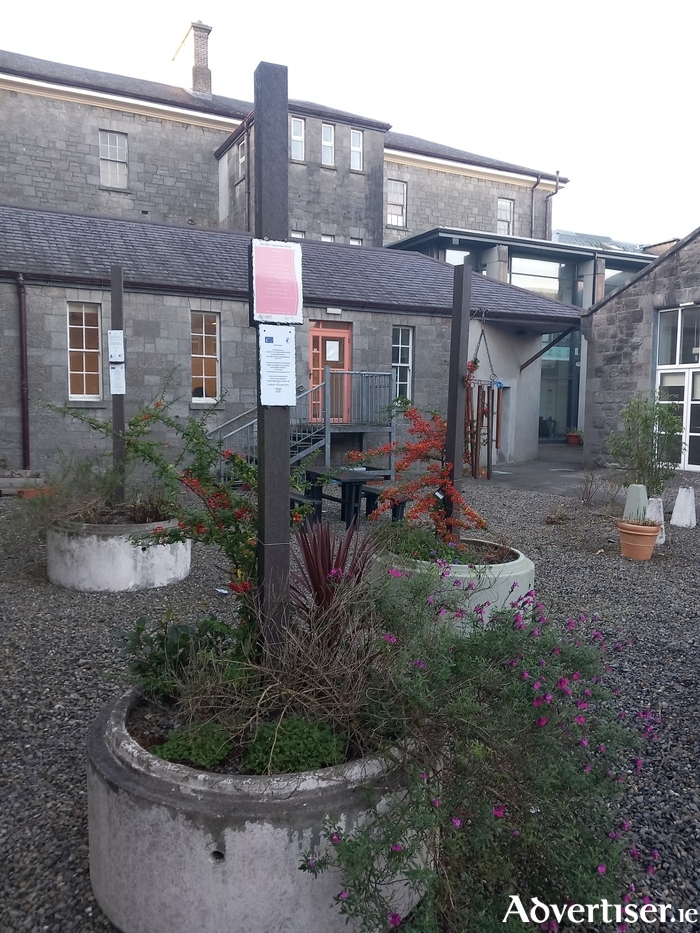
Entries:
[[[250, 235], [59, 211], [0, 207], [0, 278], [104, 287], [110, 265], [132, 291], [247, 299]], [[310, 305], [449, 315], [453, 267], [420, 253], [301, 241]], [[578, 310], [474, 275], [487, 317], [570, 327]]]

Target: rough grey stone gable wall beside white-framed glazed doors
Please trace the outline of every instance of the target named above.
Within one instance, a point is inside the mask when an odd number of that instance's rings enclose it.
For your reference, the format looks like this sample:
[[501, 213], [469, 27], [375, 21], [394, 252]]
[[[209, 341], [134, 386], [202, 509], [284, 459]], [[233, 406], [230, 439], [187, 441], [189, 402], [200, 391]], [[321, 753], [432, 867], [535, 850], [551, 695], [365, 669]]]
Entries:
[[662, 259], [639, 281], [581, 318], [588, 341], [584, 455], [588, 467], [609, 459], [605, 438], [635, 392], [656, 384], [657, 312], [700, 301], [700, 237]]

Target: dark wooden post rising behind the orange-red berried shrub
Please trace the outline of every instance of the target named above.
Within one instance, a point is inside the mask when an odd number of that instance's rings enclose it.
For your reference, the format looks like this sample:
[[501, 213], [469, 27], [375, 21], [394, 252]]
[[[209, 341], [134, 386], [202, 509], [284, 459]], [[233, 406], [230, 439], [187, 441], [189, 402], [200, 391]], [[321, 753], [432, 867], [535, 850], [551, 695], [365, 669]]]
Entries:
[[[452, 332], [450, 336], [450, 373], [447, 383], [447, 438], [445, 455], [450, 480], [459, 492], [464, 474], [464, 410], [466, 405], [467, 355], [469, 353], [469, 311], [472, 294], [472, 267], [467, 260], [455, 266], [452, 291]], [[448, 518], [454, 512], [449, 496], [445, 501]]]

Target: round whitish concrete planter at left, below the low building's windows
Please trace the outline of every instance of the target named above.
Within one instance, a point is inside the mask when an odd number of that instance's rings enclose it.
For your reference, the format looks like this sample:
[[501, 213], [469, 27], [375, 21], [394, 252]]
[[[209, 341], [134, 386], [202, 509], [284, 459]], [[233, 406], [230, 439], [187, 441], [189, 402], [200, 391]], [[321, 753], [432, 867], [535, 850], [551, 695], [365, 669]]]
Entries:
[[171, 522], [86, 525], [55, 522], [46, 532], [46, 569], [51, 583], [88, 592], [146, 590], [184, 580], [191, 541], [145, 546], [134, 536], [153, 534]]

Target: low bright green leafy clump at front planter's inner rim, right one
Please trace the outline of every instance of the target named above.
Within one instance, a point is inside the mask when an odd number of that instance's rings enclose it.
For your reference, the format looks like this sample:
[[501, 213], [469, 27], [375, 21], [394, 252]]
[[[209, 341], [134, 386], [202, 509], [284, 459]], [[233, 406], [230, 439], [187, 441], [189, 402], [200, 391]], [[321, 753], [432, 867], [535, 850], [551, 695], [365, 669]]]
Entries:
[[263, 723], [249, 741], [245, 768], [250, 774], [313, 771], [345, 761], [347, 739], [330, 726], [290, 716]]

